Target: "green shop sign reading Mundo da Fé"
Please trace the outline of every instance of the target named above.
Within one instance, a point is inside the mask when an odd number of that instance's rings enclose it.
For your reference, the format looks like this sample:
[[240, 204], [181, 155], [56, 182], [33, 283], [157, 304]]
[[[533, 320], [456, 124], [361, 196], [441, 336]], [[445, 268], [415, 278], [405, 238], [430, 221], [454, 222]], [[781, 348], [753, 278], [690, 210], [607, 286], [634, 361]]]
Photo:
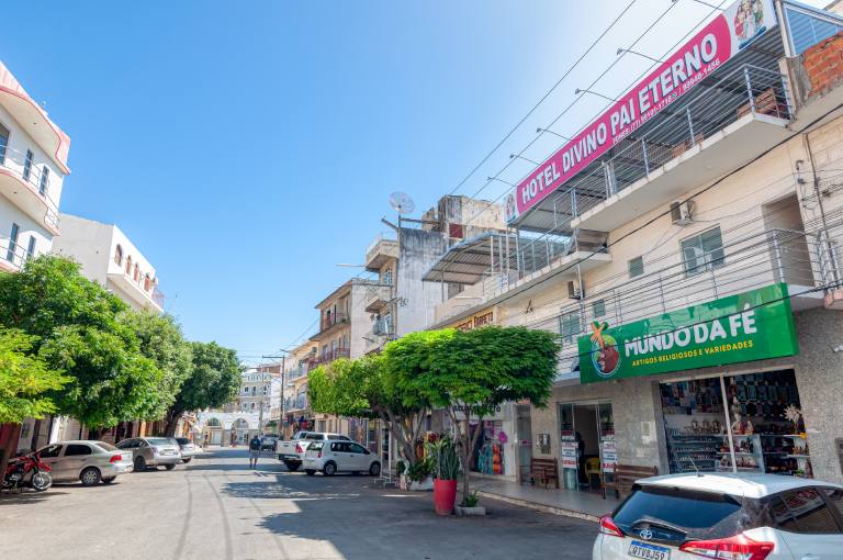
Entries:
[[784, 283], [618, 327], [595, 322], [577, 340], [583, 383], [798, 354]]

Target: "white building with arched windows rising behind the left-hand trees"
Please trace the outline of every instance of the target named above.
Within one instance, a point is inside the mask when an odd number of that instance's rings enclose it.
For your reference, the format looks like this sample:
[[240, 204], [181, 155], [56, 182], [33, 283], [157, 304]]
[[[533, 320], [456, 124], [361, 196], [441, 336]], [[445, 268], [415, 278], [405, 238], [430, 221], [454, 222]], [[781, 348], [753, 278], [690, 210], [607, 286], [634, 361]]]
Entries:
[[61, 214], [61, 237], [53, 251], [79, 262], [82, 275], [133, 309], [164, 311], [155, 267], [116, 225]]

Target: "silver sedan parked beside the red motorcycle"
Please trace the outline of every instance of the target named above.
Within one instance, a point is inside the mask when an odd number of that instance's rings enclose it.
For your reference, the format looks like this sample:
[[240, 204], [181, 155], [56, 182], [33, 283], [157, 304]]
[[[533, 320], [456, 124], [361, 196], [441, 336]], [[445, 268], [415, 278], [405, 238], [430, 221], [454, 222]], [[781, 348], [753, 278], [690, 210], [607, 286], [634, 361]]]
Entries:
[[105, 441], [61, 441], [42, 447], [38, 455], [52, 469], [55, 482], [78, 480], [86, 486], [108, 484], [132, 470], [132, 452]]

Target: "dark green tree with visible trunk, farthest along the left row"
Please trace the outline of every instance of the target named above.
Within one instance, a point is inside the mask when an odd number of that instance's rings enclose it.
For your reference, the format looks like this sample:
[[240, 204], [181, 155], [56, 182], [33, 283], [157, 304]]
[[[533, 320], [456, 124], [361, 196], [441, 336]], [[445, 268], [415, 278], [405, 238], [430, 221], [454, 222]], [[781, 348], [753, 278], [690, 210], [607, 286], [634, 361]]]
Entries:
[[165, 434], [176, 434], [181, 415], [188, 411], [217, 408], [234, 399], [244, 368], [237, 352], [216, 343], [191, 343], [193, 368], [167, 412]]

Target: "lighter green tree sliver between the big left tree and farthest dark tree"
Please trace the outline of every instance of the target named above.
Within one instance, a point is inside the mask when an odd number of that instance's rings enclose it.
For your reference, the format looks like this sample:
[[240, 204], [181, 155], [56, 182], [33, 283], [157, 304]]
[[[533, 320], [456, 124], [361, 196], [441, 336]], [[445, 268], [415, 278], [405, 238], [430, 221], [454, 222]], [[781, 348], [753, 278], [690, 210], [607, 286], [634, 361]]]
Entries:
[[120, 315], [120, 320], [137, 336], [140, 352], [161, 371], [155, 399], [138, 418], [161, 418], [176, 403], [176, 395], [193, 370], [191, 346], [184, 340], [181, 326], [172, 315], [161, 315], [154, 311], [126, 312]]

